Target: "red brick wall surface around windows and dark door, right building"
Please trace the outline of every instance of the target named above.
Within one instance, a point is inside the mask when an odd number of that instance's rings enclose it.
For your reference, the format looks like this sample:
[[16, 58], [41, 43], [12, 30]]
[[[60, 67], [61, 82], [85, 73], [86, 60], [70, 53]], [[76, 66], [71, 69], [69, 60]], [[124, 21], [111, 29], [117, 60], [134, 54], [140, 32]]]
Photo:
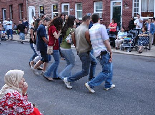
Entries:
[[[60, 0], [60, 9], [62, 3], [69, 3], [71, 15], [75, 15], [75, 3], [82, 3], [83, 16], [87, 13], [94, 13], [94, 2], [103, 2], [103, 14], [101, 23], [108, 27], [110, 23], [110, 10], [111, 10], [111, 0]], [[122, 25], [127, 29], [128, 23], [132, 16], [132, 0], [122, 0]], [[128, 4], [129, 8], [125, 8], [124, 4]]]

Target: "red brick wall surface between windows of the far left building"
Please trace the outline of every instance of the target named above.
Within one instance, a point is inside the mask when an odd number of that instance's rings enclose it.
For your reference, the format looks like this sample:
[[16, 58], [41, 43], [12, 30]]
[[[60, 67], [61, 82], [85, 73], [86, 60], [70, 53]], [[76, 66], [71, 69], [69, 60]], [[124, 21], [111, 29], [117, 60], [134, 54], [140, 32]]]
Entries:
[[23, 17], [27, 17], [25, 0], [1, 0], [0, 1], [0, 19], [3, 18], [2, 9], [6, 9], [6, 18], [10, 18], [9, 5], [13, 9], [13, 22], [18, 24], [19, 21], [19, 4], [23, 4]]

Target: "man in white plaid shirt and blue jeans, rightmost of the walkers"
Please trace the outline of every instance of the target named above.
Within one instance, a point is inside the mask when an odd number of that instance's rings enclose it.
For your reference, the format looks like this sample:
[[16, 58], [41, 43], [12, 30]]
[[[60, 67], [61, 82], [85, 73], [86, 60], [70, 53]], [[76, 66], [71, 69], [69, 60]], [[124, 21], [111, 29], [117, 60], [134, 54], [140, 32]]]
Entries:
[[90, 41], [94, 51], [94, 56], [102, 66], [102, 71], [92, 80], [85, 83], [91, 93], [95, 93], [94, 87], [105, 81], [105, 90], [115, 88], [112, 84], [112, 51], [109, 43], [109, 36], [104, 25], [100, 24], [98, 14], [92, 15], [93, 26], [89, 30]]

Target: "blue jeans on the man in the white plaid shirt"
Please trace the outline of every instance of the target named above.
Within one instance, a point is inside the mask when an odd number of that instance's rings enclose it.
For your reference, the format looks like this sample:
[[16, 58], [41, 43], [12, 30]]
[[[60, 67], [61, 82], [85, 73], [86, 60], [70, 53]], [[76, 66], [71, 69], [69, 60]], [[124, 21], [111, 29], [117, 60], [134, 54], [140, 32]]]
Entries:
[[104, 54], [100, 57], [97, 57], [98, 61], [102, 66], [102, 72], [100, 72], [94, 79], [88, 82], [88, 85], [91, 88], [100, 85], [103, 81], [105, 81], [105, 88], [109, 88], [112, 85], [112, 77], [113, 77], [113, 68], [112, 63], [109, 62], [110, 55], [109, 53]]

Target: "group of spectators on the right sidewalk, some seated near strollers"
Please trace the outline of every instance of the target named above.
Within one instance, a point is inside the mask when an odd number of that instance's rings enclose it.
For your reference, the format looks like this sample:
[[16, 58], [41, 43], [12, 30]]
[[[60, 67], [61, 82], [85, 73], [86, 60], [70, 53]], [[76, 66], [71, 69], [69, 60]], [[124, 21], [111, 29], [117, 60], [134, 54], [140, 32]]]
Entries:
[[[124, 38], [127, 37], [127, 32], [125, 31], [125, 28], [122, 26], [120, 31], [117, 32], [117, 23], [114, 19], [112, 19], [112, 22], [109, 24], [109, 34], [116, 35], [116, 39], [114, 40], [115, 44], [113, 47], [116, 49], [120, 49], [120, 45], [123, 43]], [[155, 33], [155, 18], [149, 18], [145, 21], [142, 17], [140, 17], [139, 14], [137, 14], [137, 19], [134, 20], [134, 18], [131, 18], [131, 21], [129, 22], [128, 26], [129, 31], [130, 30], [136, 30], [138, 35], [135, 40], [135, 44], [138, 45], [138, 52], [142, 53], [145, 46], [148, 44], [148, 50], [151, 50], [152, 45], [154, 44], [154, 33]], [[145, 33], [145, 34], [144, 34]], [[144, 36], [143, 36], [144, 35]]]

